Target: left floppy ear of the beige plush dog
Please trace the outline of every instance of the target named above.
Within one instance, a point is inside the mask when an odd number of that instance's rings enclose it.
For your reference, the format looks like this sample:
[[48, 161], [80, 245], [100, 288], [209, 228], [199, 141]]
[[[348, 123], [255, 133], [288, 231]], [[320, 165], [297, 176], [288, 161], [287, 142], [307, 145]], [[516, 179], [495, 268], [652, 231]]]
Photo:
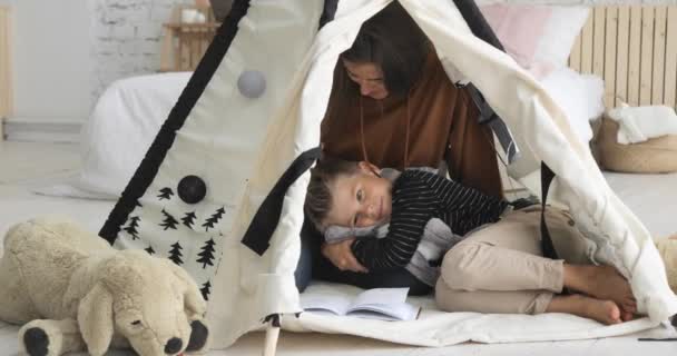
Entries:
[[101, 284], [95, 285], [78, 307], [78, 325], [91, 355], [104, 355], [112, 339], [112, 296]]

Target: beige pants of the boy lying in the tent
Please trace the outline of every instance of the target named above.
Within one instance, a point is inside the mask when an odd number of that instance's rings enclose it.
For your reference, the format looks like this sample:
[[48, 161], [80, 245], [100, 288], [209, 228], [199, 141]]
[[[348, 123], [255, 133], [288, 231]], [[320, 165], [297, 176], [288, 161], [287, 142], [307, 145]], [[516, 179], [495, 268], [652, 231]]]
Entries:
[[588, 241], [571, 217], [548, 208], [546, 219], [560, 258], [541, 257], [540, 208], [513, 211], [471, 233], [444, 256], [435, 286], [448, 312], [544, 313], [562, 291], [563, 261], [590, 264]]

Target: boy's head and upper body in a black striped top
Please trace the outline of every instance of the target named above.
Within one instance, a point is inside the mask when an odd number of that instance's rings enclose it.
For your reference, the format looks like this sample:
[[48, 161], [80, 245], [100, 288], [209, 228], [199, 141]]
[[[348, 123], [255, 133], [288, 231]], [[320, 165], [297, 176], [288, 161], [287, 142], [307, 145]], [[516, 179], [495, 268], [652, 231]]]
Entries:
[[463, 236], [496, 222], [509, 206], [429, 171], [405, 170], [393, 180], [380, 172], [365, 161], [324, 159], [312, 170], [305, 202], [306, 216], [323, 234], [330, 226], [354, 229], [390, 222], [385, 238], [359, 239], [352, 246], [370, 270], [408, 265], [432, 218]]

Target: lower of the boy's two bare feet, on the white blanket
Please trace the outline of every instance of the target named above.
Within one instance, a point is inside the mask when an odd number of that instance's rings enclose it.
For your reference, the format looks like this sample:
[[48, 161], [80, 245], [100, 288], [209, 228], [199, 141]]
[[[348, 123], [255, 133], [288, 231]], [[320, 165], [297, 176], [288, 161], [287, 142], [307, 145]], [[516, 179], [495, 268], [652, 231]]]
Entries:
[[616, 303], [611, 300], [595, 299], [580, 294], [555, 296], [546, 312], [573, 314], [607, 325], [622, 323], [620, 318], [620, 308]]

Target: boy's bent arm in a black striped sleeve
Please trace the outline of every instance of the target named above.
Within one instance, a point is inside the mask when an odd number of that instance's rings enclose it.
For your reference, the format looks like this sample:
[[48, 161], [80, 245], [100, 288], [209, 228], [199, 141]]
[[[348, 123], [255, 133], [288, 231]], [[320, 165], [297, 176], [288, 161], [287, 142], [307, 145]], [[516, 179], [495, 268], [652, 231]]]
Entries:
[[425, 225], [439, 209], [439, 198], [432, 187], [412, 172], [403, 174], [393, 187], [393, 209], [387, 235], [353, 243], [355, 258], [370, 271], [406, 266], [419, 247]]

